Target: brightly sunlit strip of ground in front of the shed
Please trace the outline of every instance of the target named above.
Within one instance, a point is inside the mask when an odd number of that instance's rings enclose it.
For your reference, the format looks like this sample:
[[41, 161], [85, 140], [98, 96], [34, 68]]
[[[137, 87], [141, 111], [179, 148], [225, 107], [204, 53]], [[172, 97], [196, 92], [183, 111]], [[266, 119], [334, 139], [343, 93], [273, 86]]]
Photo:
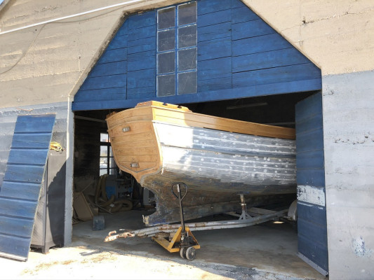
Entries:
[[150, 253], [107, 251], [82, 241], [51, 248], [45, 255], [32, 250], [27, 262], [0, 258], [0, 267], [0, 279], [304, 279]]

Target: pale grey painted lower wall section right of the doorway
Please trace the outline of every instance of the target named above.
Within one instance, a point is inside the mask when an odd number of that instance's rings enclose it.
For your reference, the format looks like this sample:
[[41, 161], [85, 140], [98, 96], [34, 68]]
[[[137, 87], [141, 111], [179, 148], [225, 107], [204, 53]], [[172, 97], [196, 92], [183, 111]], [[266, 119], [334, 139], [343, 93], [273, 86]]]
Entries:
[[330, 279], [374, 279], [374, 71], [323, 78]]

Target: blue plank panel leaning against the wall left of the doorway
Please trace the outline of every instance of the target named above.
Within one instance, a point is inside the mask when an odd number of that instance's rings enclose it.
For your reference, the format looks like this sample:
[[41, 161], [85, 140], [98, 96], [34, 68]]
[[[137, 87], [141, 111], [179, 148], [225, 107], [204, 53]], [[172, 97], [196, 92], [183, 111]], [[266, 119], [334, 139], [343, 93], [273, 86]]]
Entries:
[[55, 114], [18, 116], [0, 188], [0, 255], [27, 260]]

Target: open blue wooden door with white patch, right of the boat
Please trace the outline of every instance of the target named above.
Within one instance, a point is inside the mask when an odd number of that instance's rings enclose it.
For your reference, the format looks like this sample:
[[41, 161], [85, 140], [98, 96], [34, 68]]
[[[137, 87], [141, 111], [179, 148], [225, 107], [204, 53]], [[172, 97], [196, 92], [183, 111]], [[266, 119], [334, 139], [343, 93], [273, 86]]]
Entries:
[[[298, 191], [314, 188], [325, 202], [321, 93], [299, 102], [295, 113]], [[298, 251], [328, 272], [326, 203], [312, 202], [298, 200]]]

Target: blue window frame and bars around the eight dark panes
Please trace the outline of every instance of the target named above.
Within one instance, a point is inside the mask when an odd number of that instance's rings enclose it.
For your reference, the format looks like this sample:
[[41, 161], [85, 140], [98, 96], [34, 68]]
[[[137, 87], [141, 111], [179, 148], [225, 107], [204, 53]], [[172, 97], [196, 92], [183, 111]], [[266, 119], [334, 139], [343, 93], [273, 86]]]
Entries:
[[[185, 6], [187, 4], [194, 3], [194, 8], [196, 9], [196, 20], [195, 22], [188, 23], [185, 25], [179, 25], [179, 9], [181, 6]], [[162, 10], [174, 8], [174, 26], [173, 27], [167, 27], [167, 28], [161, 28], [159, 29], [159, 13]], [[187, 47], [180, 48], [180, 42], [179, 42], [179, 29], [182, 29], [184, 27], [196, 27], [196, 43], [195, 45], [189, 45]], [[174, 30], [174, 49], [171, 50], [162, 50], [159, 51], [159, 34], [163, 31], [168, 30]], [[157, 97], [168, 97], [168, 96], [175, 96], [175, 95], [184, 95], [184, 94], [196, 94], [197, 93], [197, 1], [189, 1], [185, 3], [180, 3], [174, 6], [168, 6], [165, 8], [160, 8], [157, 10], [157, 22], [156, 22], [156, 96]], [[180, 70], [179, 68], [179, 52], [180, 50], [196, 50], [196, 56], [195, 56], [195, 68], [194, 69], [187, 69], [187, 70]], [[163, 53], [168, 52], [174, 52], [174, 71], [168, 72], [168, 73], [159, 73], [159, 55]], [[179, 90], [179, 74], [180, 73], [195, 73], [196, 74], [196, 90], [194, 92], [187, 92], [187, 93], [180, 93]], [[160, 76], [174, 76], [174, 92], [171, 94], [166, 95], [160, 95], [159, 94], [159, 77]]]

